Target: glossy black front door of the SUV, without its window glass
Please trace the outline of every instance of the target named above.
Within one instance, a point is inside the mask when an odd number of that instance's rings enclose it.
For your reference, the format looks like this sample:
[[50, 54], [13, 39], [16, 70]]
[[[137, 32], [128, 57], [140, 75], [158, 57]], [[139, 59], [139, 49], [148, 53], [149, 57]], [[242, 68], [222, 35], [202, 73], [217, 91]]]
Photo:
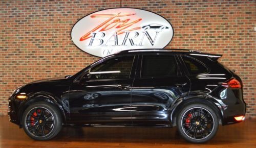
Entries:
[[[138, 56], [134, 56], [134, 63]], [[94, 65], [96, 66], [96, 64]], [[133, 64], [131, 73], [135, 72]], [[83, 73], [86, 73], [84, 71]], [[70, 117], [72, 122], [100, 124], [120, 122], [131, 124], [131, 90], [134, 75], [129, 79], [89, 80], [85, 84], [72, 83], [69, 91]], [[93, 95], [94, 97], [88, 98]]]

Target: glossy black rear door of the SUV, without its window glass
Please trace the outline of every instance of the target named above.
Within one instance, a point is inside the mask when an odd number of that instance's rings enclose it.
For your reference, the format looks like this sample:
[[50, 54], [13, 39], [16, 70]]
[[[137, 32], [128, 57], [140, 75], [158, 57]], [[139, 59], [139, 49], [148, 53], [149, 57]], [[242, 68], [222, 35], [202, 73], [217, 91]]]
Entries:
[[[143, 54], [139, 57], [138, 69], [141, 69]], [[166, 55], [166, 54], [158, 54]], [[173, 54], [168, 54], [175, 56]], [[177, 62], [177, 60], [176, 60]], [[177, 62], [177, 65], [178, 62]], [[176, 76], [160, 78], [141, 78], [140, 72], [134, 79], [132, 87], [131, 114], [134, 125], [143, 126], [145, 120], [152, 126], [169, 126], [170, 107], [174, 100], [182, 93], [188, 92], [190, 82], [187, 77], [181, 75], [178, 69]], [[177, 77], [178, 76], [178, 77]]]

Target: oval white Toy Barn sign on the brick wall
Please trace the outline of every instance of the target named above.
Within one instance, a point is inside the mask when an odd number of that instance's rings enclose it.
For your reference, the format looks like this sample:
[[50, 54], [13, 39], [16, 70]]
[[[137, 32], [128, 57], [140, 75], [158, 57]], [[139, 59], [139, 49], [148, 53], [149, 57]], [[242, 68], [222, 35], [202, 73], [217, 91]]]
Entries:
[[105, 57], [123, 50], [164, 48], [173, 38], [172, 24], [142, 9], [113, 8], [78, 20], [71, 38], [82, 51]]

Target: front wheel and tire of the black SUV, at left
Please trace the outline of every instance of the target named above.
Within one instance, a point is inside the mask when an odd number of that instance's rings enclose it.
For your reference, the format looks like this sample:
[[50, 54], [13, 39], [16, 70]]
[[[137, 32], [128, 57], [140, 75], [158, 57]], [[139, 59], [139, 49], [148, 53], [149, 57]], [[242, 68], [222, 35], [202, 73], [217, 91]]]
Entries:
[[62, 128], [62, 117], [58, 108], [48, 102], [36, 102], [23, 113], [22, 125], [26, 134], [35, 140], [49, 140]]

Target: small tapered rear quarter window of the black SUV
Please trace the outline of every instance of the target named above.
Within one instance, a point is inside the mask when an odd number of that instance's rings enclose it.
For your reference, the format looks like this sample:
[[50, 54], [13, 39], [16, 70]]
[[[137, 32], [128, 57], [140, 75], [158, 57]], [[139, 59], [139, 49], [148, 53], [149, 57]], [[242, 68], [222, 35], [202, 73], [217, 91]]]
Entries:
[[207, 72], [207, 68], [203, 64], [199, 63], [198, 61], [188, 57], [182, 57], [182, 58], [187, 67], [188, 72], [191, 75]]

